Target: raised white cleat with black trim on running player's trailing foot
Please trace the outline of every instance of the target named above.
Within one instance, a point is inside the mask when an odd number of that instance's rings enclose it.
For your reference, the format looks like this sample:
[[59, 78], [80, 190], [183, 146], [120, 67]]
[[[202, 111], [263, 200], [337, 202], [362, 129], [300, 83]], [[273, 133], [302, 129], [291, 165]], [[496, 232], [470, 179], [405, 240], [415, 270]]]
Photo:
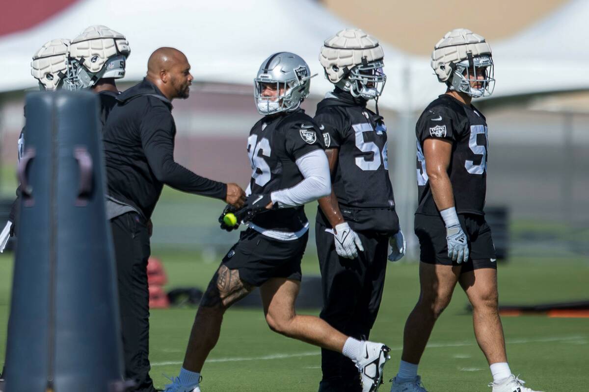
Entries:
[[365, 341], [362, 350], [362, 357], [356, 363], [360, 371], [362, 392], [376, 392], [382, 384], [382, 368], [385, 367], [385, 362], [391, 359], [391, 349], [382, 343]]

